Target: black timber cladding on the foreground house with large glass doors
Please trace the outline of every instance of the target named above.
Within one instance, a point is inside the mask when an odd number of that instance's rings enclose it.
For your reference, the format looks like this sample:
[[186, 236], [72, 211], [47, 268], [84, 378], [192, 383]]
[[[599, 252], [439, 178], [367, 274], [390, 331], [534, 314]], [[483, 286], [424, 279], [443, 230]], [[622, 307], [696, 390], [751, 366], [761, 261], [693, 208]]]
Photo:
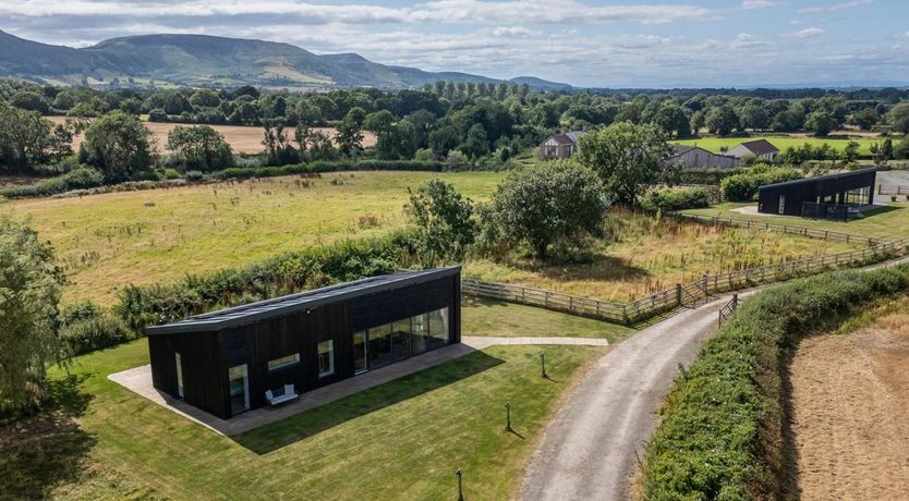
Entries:
[[[155, 388], [178, 395], [174, 353], [183, 361], [184, 400], [229, 418], [230, 367], [245, 364], [250, 407], [268, 405], [265, 392], [293, 384], [298, 393], [354, 376], [353, 333], [448, 308], [448, 342], [461, 340], [460, 274], [448, 274], [337, 303], [322, 304], [249, 325], [148, 338]], [[318, 375], [318, 344], [334, 342], [335, 371]], [[268, 370], [268, 362], [300, 354], [300, 363]], [[419, 356], [419, 355], [416, 355]]]

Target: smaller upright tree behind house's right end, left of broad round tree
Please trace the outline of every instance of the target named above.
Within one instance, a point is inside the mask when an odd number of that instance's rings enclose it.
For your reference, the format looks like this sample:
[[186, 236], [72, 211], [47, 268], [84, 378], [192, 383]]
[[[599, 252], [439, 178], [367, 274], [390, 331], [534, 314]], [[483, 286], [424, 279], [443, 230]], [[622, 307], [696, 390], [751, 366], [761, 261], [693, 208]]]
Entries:
[[476, 237], [473, 203], [449, 183], [432, 180], [408, 188], [411, 222], [417, 228], [420, 256], [425, 265], [460, 261]]

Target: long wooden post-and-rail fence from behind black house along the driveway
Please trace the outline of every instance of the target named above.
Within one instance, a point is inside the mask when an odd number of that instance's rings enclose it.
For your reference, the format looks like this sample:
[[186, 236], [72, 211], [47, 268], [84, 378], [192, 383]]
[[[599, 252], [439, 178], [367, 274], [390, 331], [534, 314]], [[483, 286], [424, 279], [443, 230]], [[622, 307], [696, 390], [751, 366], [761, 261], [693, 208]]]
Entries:
[[[838, 235], [846, 234], [838, 233]], [[852, 240], [857, 239], [856, 235], [846, 236], [850, 236]], [[887, 258], [906, 256], [907, 254], [909, 254], [909, 239], [878, 243], [861, 250], [808, 257], [727, 273], [708, 274], [693, 282], [677, 284], [672, 289], [659, 291], [628, 303], [575, 296], [518, 284], [486, 282], [473, 278], [464, 278], [461, 288], [462, 292], [470, 296], [537, 306], [630, 326], [680, 306], [696, 305], [699, 302], [710, 300], [714, 293], [738, 291], [833, 269], [851, 268]]]

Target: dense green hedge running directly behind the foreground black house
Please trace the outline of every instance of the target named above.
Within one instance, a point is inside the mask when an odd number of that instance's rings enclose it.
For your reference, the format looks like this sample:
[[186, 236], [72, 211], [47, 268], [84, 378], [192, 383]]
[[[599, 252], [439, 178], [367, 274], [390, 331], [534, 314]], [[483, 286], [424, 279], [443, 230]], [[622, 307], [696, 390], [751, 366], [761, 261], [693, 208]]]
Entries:
[[141, 331], [219, 307], [389, 273], [415, 262], [415, 245], [413, 233], [400, 231], [286, 253], [242, 269], [187, 276], [172, 284], [128, 285], [114, 310]]

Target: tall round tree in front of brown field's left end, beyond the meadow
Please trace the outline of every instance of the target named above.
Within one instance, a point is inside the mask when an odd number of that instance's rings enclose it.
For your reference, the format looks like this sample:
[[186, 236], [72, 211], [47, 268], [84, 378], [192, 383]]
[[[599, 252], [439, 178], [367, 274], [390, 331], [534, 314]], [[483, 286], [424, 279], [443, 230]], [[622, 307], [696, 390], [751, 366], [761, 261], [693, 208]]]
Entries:
[[125, 181], [152, 167], [152, 132], [137, 117], [113, 111], [85, 131], [80, 157], [108, 181]]

